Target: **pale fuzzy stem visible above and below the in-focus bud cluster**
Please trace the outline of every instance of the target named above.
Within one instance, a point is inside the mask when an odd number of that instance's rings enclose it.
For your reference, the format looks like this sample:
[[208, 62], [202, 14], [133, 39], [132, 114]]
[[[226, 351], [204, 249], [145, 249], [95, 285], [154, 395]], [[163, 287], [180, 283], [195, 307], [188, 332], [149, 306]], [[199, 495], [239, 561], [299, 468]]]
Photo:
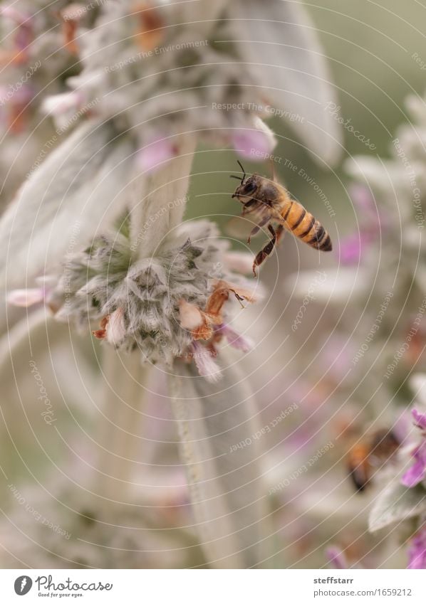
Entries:
[[[135, 260], [155, 254], [162, 239], [181, 223], [195, 142], [191, 134], [180, 135], [177, 153], [165, 167], [133, 182], [130, 206]], [[133, 503], [132, 479], [140, 460], [142, 401], [148, 373], [149, 366], [142, 366], [138, 351], [119, 354], [105, 346], [104, 411], [97, 440], [98, 494], [105, 510]]]

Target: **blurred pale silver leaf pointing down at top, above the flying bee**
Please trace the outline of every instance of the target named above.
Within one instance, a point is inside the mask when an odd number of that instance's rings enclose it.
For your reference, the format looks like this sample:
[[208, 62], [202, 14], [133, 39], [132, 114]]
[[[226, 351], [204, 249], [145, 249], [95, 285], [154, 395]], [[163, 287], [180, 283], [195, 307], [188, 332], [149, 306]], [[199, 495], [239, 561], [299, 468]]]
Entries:
[[300, 4], [282, 0], [230, 3], [235, 43], [245, 67], [271, 105], [296, 115], [289, 125], [313, 157], [335, 163], [341, 129], [326, 110], [336, 95], [315, 27]]

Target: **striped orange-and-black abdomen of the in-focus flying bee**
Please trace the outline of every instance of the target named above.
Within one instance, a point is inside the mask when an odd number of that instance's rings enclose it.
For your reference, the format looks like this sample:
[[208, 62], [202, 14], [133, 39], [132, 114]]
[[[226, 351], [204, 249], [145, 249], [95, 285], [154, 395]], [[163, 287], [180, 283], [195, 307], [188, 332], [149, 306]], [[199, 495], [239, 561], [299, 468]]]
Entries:
[[281, 213], [286, 228], [296, 237], [323, 252], [333, 249], [326, 229], [298, 201], [291, 200]]

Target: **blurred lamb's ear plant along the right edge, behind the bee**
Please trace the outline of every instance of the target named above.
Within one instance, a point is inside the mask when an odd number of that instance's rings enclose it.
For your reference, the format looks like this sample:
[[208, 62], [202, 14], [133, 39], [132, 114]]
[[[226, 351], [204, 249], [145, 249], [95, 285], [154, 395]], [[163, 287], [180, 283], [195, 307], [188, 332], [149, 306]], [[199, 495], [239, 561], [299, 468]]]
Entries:
[[[363, 531], [368, 527], [371, 542], [383, 544], [377, 566], [402, 552], [409, 568], [426, 568], [426, 378], [413, 376], [425, 361], [425, 97], [410, 95], [405, 107], [409, 123], [393, 134], [389, 157], [346, 161], [358, 229], [341, 238], [340, 264], [327, 270], [315, 297], [332, 308], [360, 309], [339, 322], [338, 336], [328, 342], [337, 376], [328, 405], [353, 409], [358, 443], [363, 433], [369, 438], [383, 427], [401, 443], [387, 462], [375, 465], [367, 492], [350, 498], [350, 512], [341, 484], [335, 487], [342, 504], [333, 499], [333, 513], [345, 509], [342, 522], [350, 513]], [[294, 292], [301, 296], [315, 273], [297, 277]], [[328, 372], [329, 359], [323, 359], [317, 368]], [[340, 440], [344, 457], [348, 444]]]

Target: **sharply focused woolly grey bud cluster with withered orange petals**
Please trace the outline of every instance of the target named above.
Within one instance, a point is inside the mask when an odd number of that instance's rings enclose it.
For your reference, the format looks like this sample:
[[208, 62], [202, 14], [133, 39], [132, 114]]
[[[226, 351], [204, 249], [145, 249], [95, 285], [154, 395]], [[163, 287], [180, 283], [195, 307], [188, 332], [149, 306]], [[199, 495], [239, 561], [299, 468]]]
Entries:
[[227, 242], [212, 223], [197, 221], [180, 226], [152, 257], [133, 260], [128, 227], [124, 221], [118, 233], [68, 258], [47, 296], [56, 318], [117, 348], [139, 349], [143, 361], [170, 367], [183, 356], [203, 375], [219, 377], [214, 344], [227, 337], [243, 351], [250, 347], [225, 324], [224, 303], [254, 300], [227, 268], [227, 260], [235, 265]]

